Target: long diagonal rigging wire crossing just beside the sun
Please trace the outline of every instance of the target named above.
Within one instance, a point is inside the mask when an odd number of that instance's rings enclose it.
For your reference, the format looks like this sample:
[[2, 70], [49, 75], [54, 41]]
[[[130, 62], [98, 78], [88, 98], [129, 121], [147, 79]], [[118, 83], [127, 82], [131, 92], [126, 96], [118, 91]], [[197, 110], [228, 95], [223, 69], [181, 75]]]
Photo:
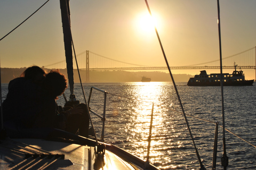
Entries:
[[[149, 14], [152, 16], [147, 0], [145, 0], [145, 2], [146, 2], [146, 5], [147, 5], [147, 8], [148, 8], [148, 12], [149, 12]], [[174, 81], [174, 79], [173, 79], [173, 75], [172, 75], [172, 72], [171, 72], [169, 63], [168, 63], [168, 61], [167, 61], [167, 58], [166, 58], [166, 55], [165, 55], [165, 52], [164, 52], [164, 48], [163, 48], [161, 39], [160, 39], [160, 37], [159, 37], [159, 35], [158, 35], [158, 31], [157, 31], [157, 29], [156, 29], [156, 26], [155, 26], [155, 31], [156, 31], [156, 35], [157, 35], [159, 44], [160, 44], [161, 49], [162, 49], [162, 53], [163, 53], [163, 55], [164, 55], [165, 63], [166, 63], [166, 65], [167, 65], [168, 70], [169, 70], [169, 73], [170, 73], [170, 75], [171, 75], [171, 79], [172, 79], [172, 82], [173, 82], [173, 86], [174, 86], [174, 89], [175, 89], [175, 91], [176, 91], [176, 94], [177, 94], [177, 97], [178, 97], [178, 100], [179, 100], [179, 103], [180, 103], [180, 107], [181, 107], [182, 113], [183, 113], [183, 115], [184, 115], [184, 118], [185, 118], [185, 121], [186, 121], [186, 124], [187, 124], [187, 127], [188, 127], [188, 131], [189, 131], [189, 134], [190, 134], [190, 138], [191, 138], [191, 140], [193, 141], [193, 144], [194, 144], [194, 148], [195, 148], [195, 151], [196, 151], [196, 156], [197, 156], [198, 162], [199, 162], [200, 167], [201, 167], [200, 169], [205, 169], [205, 167], [204, 167], [204, 165], [203, 165], [203, 163], [202, 163], [202, 161], [201, 161], [201, 158], [200, 158], [200, 156], [199, 156], [198, 150], [197, 150], [197, 148], [196, 148], [196, 144], [195, 144], [195, 141], [194, 141], [194, 139], [193, 139], [193, 135], [192, 135], [192, 133], [191, 133], [191, 130], [190, 130], [190, 127], [189, 127], [189, 124], [188, 124], [187, 116], [186, 116], [186, 113], [185, 113], [185, 111], [184, 111], [184, 108], [183, 108], [183, 105], [182, 105], [182, 102], [181, 102], [181, 99], [180, 99], [180, 95], [179, 95], [177, 86], [176, 86], [176, 84], [175, 84], [175, 81]]]

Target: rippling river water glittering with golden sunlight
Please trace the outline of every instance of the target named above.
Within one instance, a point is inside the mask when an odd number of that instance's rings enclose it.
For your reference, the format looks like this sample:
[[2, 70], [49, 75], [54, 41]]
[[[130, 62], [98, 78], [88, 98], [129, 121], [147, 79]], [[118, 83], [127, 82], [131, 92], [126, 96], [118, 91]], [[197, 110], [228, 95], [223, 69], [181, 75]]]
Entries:
[[[193, 142], [171, 82], [84, 83], [83, 86], [86, 100], [92, 86], [108, 92], [105, 141], [146, 159], [153, 109], [150, 163], [160, 169], [199, 169]], [[7, 84], [2, 84], [2, 88], [5, 97]], [[222, 125], [221, 89], [188, 87], [185, 82], [177, 83], [177, 88], [201, 160], [206, 169], [211, 169], [214, 122]], [[255, 146], [256, 86], [224, 87], [223, 91], [226, 129]], [[65, 94], [69, 96], [69, 90]], [[84, 102], [79, 84], [75, 84], [75, 95]], [[93, 89], [90, 107], [101, 115], [103, 99], [104, 94]], [[63, 105], [65, 100], [60, 97], [57, 103]], [[92, 119], [95, 129], [101, 131], [102, 122], [96, 116]], [[220, 126], [218, 132], [217, 169], [223, 169], [220, 163], [223, 152]], [[228, 169], [256, 169], [256, 148], [234, 134], [227, 131], [225, 134]], [[100, 135], [101, 132], [97, 132], [97, 136]]]

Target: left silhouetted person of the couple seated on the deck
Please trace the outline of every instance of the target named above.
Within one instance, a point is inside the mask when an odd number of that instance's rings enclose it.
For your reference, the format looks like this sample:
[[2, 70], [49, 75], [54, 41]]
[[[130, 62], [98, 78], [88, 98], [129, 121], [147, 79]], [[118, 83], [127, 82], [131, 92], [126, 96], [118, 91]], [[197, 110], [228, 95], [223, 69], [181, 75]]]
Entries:
[[3, 122], [6, 129], [31, 128], [34, 115], [41, 102], [42, 82], [46, 72], [38, 66], [28, 67], [20, 78], [8, 85], [8, 94], [3, 101]]

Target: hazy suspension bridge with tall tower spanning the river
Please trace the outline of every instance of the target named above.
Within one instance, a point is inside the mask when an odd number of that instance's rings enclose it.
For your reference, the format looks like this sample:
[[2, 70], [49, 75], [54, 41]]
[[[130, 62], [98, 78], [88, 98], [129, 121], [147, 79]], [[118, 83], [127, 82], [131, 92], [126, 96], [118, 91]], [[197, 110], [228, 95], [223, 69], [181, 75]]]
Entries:
[[[86, 81], [89, 81], [89, 71], [137, 71], [137, 70], [167, 70], [166, 66], [146, 66], [133, 63], [122, 62], [114, 60], [113, 58], [106, 57], [86, 50], [83, 53], [76, 55], [79, 70], [86, 71]], [[222, 69], [234, 69], [234, 61], [241, 69], [255, 69], [256, 66], [256, 47], [244, 50], [228, 57], [222, 58]], [[232, 65], [230, 65], [232, 64]], [[220, 69], [219, 60], [198, 63], [194, 65], [185, 66], [171, 66], [173, 69]], [[66, 61], [60, 61], [44, 66], [47, 69], [65, 69]], [[255, 69], [256, 77], [256, 69]]]

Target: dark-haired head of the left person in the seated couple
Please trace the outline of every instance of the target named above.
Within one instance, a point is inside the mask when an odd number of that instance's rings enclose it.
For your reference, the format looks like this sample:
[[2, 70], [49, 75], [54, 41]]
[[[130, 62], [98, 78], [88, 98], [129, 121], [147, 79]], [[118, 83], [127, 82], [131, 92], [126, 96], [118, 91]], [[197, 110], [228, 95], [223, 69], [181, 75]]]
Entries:
[[45, 74], [45, 70], [41, 69], [40, 67], [31, 66], [21, 73], [20, 77], [24, 77], [25, 79], [31, 80], [34, 83], [42, 83], [45, 78]]

